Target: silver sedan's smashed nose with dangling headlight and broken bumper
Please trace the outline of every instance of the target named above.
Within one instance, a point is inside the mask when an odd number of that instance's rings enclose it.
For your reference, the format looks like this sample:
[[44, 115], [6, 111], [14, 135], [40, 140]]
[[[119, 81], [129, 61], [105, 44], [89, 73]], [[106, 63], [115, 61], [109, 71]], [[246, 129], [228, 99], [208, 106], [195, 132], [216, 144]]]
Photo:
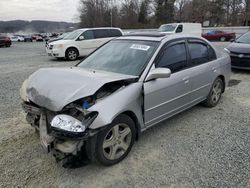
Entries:
[[[67, 106], [60, 113], [40, 108], [32, 102], [23, 102], [27, 121], [39, 131], [42, 147], [53, 153], [57, 161], [85, 155], [86, 141], [100, 130], [89, 129], [97, 112], [88, 112], [77, 104]], [[66, 160], [66, 161], [65, 161]]]

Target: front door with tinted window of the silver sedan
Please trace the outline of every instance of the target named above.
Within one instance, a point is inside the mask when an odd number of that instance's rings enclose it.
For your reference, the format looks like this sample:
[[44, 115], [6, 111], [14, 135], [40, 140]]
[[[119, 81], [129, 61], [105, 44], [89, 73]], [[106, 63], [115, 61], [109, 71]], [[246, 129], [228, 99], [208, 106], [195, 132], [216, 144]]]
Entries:
[[185, 40], [165, 45], [152, 68], [169, 68], [169, 78], [144, 83], [144, 121], [156, 124], [180, 111], [190, 103], [190, 70], [187, 69]]

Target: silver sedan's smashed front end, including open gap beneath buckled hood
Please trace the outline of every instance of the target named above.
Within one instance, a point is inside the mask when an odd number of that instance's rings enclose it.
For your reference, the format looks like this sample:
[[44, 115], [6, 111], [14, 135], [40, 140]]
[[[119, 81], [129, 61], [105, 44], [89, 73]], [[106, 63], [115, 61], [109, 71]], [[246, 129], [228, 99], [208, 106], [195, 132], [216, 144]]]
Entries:
[[103, 100], [115, 91], [126, 87], [134, 80], [122, 80], [104, 84], [93, 95], [71, 102], [62, 110], [55, 112], [37, 105], [29, 100], [27, 82], [21, 88], [22, 107], [27, 113], [27, 121], [39, 131], [43, 148], [52, 153], [56, 160], [69, 164], [76, 161], [91, 160], [91, 144], [99, 131], [105, 128], [91, 129], [90, 126], [97, 118], [97, 111], [89, 108]]

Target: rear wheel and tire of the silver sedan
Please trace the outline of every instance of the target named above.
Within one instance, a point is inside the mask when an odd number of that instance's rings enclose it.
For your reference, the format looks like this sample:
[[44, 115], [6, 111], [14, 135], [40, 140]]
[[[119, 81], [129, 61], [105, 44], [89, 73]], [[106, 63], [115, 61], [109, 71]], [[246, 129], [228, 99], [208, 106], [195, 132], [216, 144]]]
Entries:
[[214, 81], [212, 88], [209, 92], [209, 95], [207, 99], [203, 102], [203, 104], [210, 108], [215, 107], [221, 99], [223, 87], [224, 87], [223, 81], [221, 80], [221, 78], [217, 78]]

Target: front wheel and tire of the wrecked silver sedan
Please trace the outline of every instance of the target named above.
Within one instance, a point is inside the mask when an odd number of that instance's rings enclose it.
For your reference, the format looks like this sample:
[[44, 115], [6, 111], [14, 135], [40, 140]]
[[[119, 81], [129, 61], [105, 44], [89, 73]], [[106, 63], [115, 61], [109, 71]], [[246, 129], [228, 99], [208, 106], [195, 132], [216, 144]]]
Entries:
[[104, 166], [119, 163], [130, 152], [135, 137], [134, 121], [127, 115], [118, 116], [97, 135], [95, 161]]

